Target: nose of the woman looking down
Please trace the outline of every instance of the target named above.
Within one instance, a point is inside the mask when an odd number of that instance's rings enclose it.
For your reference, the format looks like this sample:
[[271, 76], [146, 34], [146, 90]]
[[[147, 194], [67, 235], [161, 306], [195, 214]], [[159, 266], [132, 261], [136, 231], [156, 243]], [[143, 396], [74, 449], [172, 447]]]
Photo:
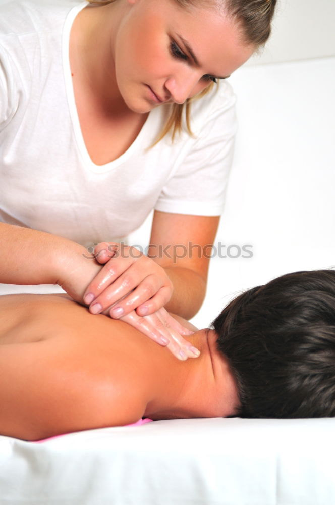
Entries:
[[187, 98], [194, 96], [201, 89], [199, 73], [194, 69], [186, 68], [176, 72], [165, 81], [165, 88], [169, 91], [176, 104], [183, 104]]

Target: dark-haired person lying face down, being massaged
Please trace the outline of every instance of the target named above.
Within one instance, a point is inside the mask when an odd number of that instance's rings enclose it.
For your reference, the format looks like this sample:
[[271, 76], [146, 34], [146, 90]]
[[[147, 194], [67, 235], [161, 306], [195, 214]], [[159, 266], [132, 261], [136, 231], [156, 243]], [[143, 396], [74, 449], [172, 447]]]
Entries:
[[[235, 298], [179, 361], [67, 295], [0, 297], [0, 434], [200, 417], [335, 415], [335, 271], [287, 274]], [[127, 347], [124, 339], [127, 339]]]

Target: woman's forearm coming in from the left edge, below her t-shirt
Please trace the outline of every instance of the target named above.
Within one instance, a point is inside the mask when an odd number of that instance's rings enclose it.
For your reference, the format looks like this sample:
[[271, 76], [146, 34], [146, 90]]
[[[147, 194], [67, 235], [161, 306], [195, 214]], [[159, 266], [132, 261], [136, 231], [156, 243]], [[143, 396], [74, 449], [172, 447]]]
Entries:
[[0, 223], [0, 283], [57, 284], [79, 244], [20, 226]]

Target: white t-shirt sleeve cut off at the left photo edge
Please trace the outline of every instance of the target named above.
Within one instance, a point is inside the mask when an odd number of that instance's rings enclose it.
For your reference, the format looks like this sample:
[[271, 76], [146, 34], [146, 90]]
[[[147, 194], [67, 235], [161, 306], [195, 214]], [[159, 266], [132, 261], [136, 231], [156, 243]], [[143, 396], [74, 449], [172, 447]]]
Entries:
[[16, 104], [16, 91], [8, 54], [0, 47], [0, 131], [13, 118]]

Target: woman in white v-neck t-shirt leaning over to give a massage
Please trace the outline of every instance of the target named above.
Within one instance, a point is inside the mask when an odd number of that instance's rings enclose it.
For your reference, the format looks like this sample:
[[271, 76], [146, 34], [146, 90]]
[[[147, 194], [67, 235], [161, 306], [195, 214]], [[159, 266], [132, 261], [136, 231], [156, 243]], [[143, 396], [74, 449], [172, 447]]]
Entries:
[[[2, 221], [88, 247], [121, 242], [154, 209], [148, 256], [98, 246], [106, 265], [81, 300], [92, 313], [144, 316], [165, 306], [190, 318], [200, 308], [202, 251], [217, 230], [236, 129], [232, 90], [213, 81], [265, 43], [274, 6], [43, 0], [1, 8]], [[14, 228], [6, 232], [11, 243]], [[186, 251], [178, 260], [176, 246]]]

